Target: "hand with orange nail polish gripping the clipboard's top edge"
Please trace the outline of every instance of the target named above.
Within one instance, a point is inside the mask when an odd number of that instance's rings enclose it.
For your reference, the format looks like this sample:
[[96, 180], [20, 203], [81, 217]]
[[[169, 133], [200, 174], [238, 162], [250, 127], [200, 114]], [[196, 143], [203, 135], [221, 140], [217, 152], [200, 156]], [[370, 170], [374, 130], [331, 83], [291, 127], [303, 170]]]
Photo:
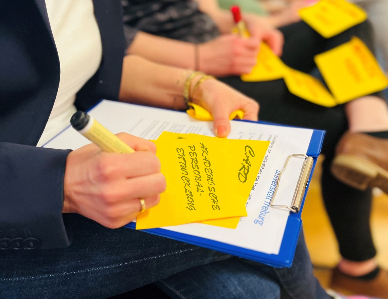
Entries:
[[215, 79], [202, 82], [192, 91], [191, 98], [194, 104], [202, 106], [213, 115], [213, 130], [218, 137], [229, 135], [229, 115], [238, 109], [244, 111], [244, 119], [258, 120], [259, 104], [256, 101]]

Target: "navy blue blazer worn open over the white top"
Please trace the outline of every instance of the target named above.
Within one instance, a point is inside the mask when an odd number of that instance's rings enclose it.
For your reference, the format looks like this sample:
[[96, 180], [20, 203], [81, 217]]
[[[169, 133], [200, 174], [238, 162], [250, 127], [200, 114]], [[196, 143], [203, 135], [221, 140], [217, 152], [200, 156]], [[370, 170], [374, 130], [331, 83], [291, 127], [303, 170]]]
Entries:
[[[125, 38], [120, 1], [94, 0], [102, 61], [76, 97], [87, 110], [117, 100]], [[70, 244], [62, 219], [63, 180], [70, 150], [35, 147], [59, 83], [59, 60], [44, 0], [0, 10], [0, 249]], [[91, 51], [93, 51], [91, 49]]]

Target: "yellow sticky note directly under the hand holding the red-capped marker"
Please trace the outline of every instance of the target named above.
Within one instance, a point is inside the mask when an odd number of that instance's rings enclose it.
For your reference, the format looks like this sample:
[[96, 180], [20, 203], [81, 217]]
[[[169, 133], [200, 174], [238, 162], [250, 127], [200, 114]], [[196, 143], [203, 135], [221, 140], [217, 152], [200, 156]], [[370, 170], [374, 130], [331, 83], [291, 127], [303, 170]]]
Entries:
[[249, 74], [241, 75], [242, 81], [257, 82], [283, 78], [285, 65], [271, 48], [262, 42], [257, 55], [257, 63]]

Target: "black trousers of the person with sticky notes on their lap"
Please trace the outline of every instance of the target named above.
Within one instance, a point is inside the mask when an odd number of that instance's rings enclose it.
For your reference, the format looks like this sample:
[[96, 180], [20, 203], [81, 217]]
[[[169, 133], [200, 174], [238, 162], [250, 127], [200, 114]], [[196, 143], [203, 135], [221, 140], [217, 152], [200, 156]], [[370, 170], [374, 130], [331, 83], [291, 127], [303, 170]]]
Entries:
[[[281, 28], [284, 34], [282, 60], [288, 66], [320, 77], [314, 56], [327, 51], [352, 36], [361, 38], [373, 49], [372, 28], [368, 22], [359, 24], [340, 35], [326, 39], [304, 22]], [[341, 135], [348, 128], [343, 105], [333, 108], [321, 107], [289, 93], [281, 80], [268, 82], [242, 82], [239, 77], [220, 78], [260, 103], [259, 118], [292, 126], [326, 131], [322, 147], [325, 155], [322, 169], [322, 195], [331, 224], [337, 236], [341, 255], [352, 261], [365, 261], [376, 255], [369, 217], [371, 213], [371, 190], [358, 191], [342, 184], [330, 173], [334, 150]], [[375, 94], [383, 97], [382, 93]]]

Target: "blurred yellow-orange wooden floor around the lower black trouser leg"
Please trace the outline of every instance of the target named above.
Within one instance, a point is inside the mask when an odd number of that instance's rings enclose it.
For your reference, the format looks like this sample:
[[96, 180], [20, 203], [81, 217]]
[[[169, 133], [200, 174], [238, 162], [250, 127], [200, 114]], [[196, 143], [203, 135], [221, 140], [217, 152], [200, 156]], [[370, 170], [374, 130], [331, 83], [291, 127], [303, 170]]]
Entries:
[[[322, 286], [327, 288], [331, 268], [339, 261], [340, 254], [320, 193], [319, 177], [322, 159], [320, 157], [310, 183], [302, 220], [307, 247], [315, 267], [315, 276]], [[388, 196], [375, 193], [371, 217], [372, 234], [378, 249], [379, 264], [388, 269]]]

